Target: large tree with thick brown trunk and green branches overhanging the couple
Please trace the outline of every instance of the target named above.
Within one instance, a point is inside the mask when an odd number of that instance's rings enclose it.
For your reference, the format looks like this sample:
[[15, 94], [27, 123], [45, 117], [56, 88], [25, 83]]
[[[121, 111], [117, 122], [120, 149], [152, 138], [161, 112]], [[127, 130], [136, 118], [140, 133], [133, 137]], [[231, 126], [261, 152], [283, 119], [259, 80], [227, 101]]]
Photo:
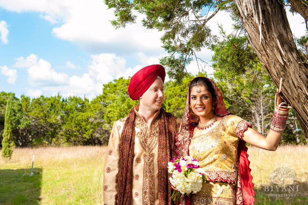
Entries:
[[[286, 18], [286, 10], [290, 10], [302, 15], [307, 25], [308, 1], [105, 0], [105, 3], [114, 9], [116, 18], [111, 23], [115, 28], [136, 23], [136, 13], [141, 13], [145, 15], [144, 27], [164, 31], [162, 47], [169, 55], [161, 58], [160, 63], [177, 83], [189, 75], [186, 66], [192, 61], [203, 71], [204, 61], [198, 57], [203, 48], [214, 52], [212, 66], [218, 80], [245, 75], [244, 86], [261, 88], [266, 79], [257, 75], [256, 68], [262, 64], [276, 87], [284, 79], [282, 96], [293, 106], [308, 137], [308, 58], [304, 45], [308, 32], [294, 38]], [[214, 12], [209, 13], [210, 10]], [[235, 23], [230, 34], [221, 27], [223, 37], [218, 38], [207, 22], [221, 10], [228, 12]]]

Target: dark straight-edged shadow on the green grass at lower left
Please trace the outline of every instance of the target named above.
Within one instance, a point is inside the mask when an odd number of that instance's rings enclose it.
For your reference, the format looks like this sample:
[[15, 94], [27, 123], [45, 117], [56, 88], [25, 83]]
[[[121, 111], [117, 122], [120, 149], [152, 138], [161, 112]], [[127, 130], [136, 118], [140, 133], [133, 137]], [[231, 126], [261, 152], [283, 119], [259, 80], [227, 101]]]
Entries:
[[42, 169], [0, 170], [1, 205], [38, 205], [40, 204]]

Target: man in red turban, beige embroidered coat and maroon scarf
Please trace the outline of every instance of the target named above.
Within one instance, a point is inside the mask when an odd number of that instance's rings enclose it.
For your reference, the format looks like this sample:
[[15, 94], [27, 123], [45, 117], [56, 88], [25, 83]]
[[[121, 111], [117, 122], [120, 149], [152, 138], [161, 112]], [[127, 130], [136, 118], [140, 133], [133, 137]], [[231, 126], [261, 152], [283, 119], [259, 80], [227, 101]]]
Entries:
[[167, 163], [175, 157], [181, 119], [161, 108], [165, 76], [162, 65], [150, 65], [130, 80], [129, 97], [140, 104], [113, 124], [104, 166], [104, 204], [171, 204]]

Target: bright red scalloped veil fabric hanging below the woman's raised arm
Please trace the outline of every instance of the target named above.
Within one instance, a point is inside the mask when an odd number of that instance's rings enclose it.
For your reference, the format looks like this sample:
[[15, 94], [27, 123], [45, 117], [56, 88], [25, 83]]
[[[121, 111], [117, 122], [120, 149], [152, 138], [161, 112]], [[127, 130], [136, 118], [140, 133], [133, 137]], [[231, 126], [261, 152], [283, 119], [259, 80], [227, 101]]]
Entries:
[[252, 182], [252, 176], [250, 174], [251, 169], [249, 168], [249, 160], [248, 160], [248, 154], [247, 154], [247, 147], [246, 142], [243, 140], [240, 140], [238, 144], [238, 152], [239, 152], [239, 168], [240, 168], [240, 174], [241, 174], [241, 180], [242, 180], [242, 191], [243, 191], [243, 199], [245, 205], [254, 205], [254, 201], [256, 200], [254, 198], [255, 191], [253, 191], [253, 182]]

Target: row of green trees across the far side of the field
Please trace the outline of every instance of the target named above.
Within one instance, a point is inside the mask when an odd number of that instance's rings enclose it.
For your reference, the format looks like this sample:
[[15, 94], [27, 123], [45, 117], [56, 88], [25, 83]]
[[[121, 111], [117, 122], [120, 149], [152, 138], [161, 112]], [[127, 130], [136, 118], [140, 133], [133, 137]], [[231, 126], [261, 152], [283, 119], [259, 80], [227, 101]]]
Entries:
[[[200, 74], [204, 75], [204, 74]], [[163, 108], [182, 117], [187, 88], [193, 76], [183, 80], [165, 82]], [[11, 139], [15, 146], [41, 145], [106, 145], [114, 121], [125, 117], [138, 101], [129, 98], [130, 79], [119, 78], [104, 84], [103, 93], [89, 101], [87, 98], [61, 95], [30, 99], [14, 93], [0, 93], [0, 140], [6, 138], [6, 121], [11, 121]], [[269, 131], [274, 108], [275, 86], [268, 80], [263, 89], [243, 87], [245, 78], [218, 81], [229, 112], [251, 122], [260, 133]], [[6, 112], [6, 110], [10, 112]], [[282, 143], [298, 144], [304, 136], [290, 110]], [[5, 140], [4, 140], [5, 142]], [[2, 141], [3, 145], [3, 141]]]

